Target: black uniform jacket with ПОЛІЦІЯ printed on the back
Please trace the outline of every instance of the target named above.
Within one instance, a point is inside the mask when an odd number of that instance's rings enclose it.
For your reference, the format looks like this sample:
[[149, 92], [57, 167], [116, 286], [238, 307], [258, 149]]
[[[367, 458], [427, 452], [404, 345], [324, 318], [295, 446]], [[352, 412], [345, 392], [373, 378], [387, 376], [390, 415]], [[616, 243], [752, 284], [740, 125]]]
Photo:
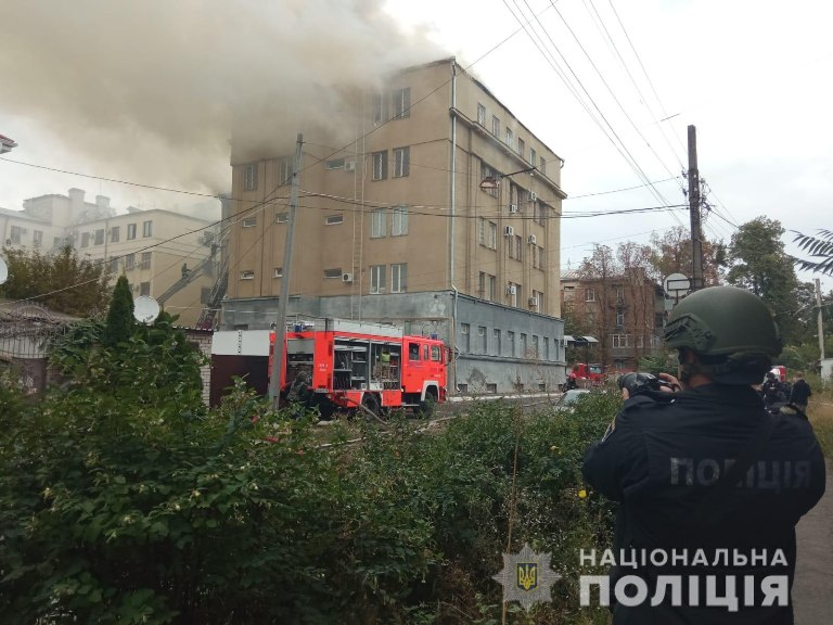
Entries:
[[[727, 482], [726, 496], [707, 495], [734, 459], [744, 456], [765, 419], [773, 423], [765, 445], [754, 455], [745, 479]], [[727, 464], [726, 460], [730, 460]], [[740, 467], [739, 467], [740, 468]], [[676, 394], [637, 395], [625, 403], [605, 438], [587, 452], [585, 479], [608, 498], [619, 501], [615, 553], [631, 548], [651, 552], [685, 549], [688, 559], [664, 564], [657, 558], [645, 566], [618, 566], [611, 572], [614, 625], [639, 624], [772, 624], [793, 623], [792, 605], [762, 607], [761, 581], [787, 575], [792, 587], [795, 570], [795, 524], [824, 493], [824, 458], [810, 423], [803, 414], [768, 417], [757, 393], [749, 386], [708, 384]], [[741, 474], [743, 475], [743, 473]], [[703, 508], [707, 509], [703, 509]], [[693, 565], [703, 549], [708, 565]], [[721, 551], [729, 558], [722, 559]], [[786, 565], [771, 566], [777, 550]], [[734, 565], [736, 550], [748, 559]], [[761, 559], [752, 564], [753, 550]], [[639, 558], [638, 558], [639, 559]], [[743, 564], [743, 557], [738, 564]], [[658, 565], [657, 565], [658, 564]], [[716, 564], [716, 565], [713, 565]], [[649, 599], [626, 607], [614, 601], [614, 587], [624, 575], [645, 581]], [[682, 604], [671, 605], [667, 579], [659, 575], [695, 576], [701, 588], [691, 600], [683, 583]], [[738, 611], [705, 607], [703, 578], [717, 576], [717, 595], [726, 594], [727, 576], [735, 576]], [[744, 576], [754, 577], [754, 605], [744, 605]], [[651, 605], [663, 586], [665, 598]], [[633, 592], [631, 591], [630, 595]], [[731, 592], [730, 592], [731, 594]], [[776, 602], [778, 603], [778, 601]]]

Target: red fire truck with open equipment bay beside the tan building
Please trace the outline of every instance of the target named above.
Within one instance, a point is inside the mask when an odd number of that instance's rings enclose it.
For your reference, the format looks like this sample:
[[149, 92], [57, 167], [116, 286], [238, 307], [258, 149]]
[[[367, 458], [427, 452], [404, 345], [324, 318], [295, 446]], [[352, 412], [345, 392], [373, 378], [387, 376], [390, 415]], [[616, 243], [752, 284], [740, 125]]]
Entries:
[[[269, 373], [274, 333], [271, 333]], [[322, 319], [287, 327], [281, 395], [306, 377], [308, 403], [322, 416], [358, 406], [428, 411], [446, 400], [448, 350], [436, 336], [409, 336], [393, 326]]]

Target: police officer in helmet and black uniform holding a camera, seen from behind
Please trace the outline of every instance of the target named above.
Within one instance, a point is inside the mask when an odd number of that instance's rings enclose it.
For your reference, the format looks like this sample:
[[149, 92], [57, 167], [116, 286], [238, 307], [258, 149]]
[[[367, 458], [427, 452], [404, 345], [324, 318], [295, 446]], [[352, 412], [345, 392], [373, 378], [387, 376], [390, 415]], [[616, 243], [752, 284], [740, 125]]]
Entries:
[[677, 305], [665, 341], [679, 380], [623, 391], [582, 468], [619, 502], [613, 623], [791, 624], [795, 524], [824, 492], [824, 460], [806, 417], [769, 414], [752, 387], [778, 328], [748, 291], [712, 286]]

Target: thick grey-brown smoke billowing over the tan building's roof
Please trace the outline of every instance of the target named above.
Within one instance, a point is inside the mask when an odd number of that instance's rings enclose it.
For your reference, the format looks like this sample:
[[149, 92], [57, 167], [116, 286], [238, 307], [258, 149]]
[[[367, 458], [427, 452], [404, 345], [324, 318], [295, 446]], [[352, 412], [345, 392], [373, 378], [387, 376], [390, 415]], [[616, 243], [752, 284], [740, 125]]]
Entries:
[[210, 192], [232, 133], [235, 158], [289, 154], [356, 89], [444, 55], [382, 0], [3, 0], [0, 24], [3, 116], [103, 176]]

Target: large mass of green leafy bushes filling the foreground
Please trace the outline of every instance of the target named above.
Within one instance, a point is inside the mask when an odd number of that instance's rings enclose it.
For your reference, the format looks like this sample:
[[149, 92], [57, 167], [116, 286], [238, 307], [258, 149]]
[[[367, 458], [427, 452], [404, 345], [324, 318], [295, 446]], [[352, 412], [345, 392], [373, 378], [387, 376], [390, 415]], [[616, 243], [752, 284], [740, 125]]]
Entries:
[[614, 396], [474, 405], [425, 433], [399, 416], [361, 444], [334, 425], [321, 446], [242, 384], [202, 408], [201, 360], [164, 316], [114, 348], [101, 329], [57, 346], [69, 382], [44, 401], [0, 391], [7, 622], [495, 622], [491, 576], [524, 543], [566, 578], [529, 617], [602, 622], [577, 610], [578, 549], [607, 544], [611, 509], [579, 496], [579, 468]]

